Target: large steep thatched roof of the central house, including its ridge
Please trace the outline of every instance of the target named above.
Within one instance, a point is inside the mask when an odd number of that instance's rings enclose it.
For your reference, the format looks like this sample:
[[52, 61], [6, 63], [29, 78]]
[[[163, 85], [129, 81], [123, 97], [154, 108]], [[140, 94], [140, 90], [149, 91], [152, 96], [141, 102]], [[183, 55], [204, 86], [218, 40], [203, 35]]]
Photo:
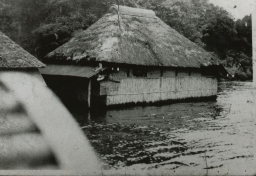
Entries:
[[154, 17], [151, 10], [124, 6], [119, 9], [119, 20], [118, 7], [113, 5], [87, 30], [48, 53], [46, 62], [99, 61], [195, 68], [220, 64], [214, 55]]

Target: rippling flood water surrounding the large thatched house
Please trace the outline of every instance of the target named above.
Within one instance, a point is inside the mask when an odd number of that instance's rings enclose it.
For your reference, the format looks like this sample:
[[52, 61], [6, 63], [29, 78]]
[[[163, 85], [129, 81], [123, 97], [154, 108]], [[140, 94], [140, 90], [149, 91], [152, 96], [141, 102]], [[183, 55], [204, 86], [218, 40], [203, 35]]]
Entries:
[[212, 101], [71, 112], [103, 174], [256, 174], [251, 85], [219, 83]]

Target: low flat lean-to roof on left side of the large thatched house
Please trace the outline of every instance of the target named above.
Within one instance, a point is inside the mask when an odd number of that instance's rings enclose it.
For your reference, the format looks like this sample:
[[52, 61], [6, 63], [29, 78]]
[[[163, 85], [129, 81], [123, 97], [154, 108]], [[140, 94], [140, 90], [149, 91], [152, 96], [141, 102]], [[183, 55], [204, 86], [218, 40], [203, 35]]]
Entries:
[[90, 78], [101, 70], [93, 71], [96, 66], [78, 66], [78, 65], [55, 65], [49, 64], [45, 68], [40, 68], [39, 71], [41, 74], [47, 75], [62, 75], [62, 76], [79, 76], [84, 78]]

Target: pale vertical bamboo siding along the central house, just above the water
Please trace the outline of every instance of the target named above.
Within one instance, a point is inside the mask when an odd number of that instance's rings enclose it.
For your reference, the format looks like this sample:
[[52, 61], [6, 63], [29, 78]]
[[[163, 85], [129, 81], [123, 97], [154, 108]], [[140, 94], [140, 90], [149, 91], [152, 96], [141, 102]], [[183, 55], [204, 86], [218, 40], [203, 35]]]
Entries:
[[187, 76], [115, 80], [120, 83], [112, 81], [101, 83], [100, 95], [107, 95], [107, 105], [208, 97], [217, 94], [217, 79], [214, 77]]

